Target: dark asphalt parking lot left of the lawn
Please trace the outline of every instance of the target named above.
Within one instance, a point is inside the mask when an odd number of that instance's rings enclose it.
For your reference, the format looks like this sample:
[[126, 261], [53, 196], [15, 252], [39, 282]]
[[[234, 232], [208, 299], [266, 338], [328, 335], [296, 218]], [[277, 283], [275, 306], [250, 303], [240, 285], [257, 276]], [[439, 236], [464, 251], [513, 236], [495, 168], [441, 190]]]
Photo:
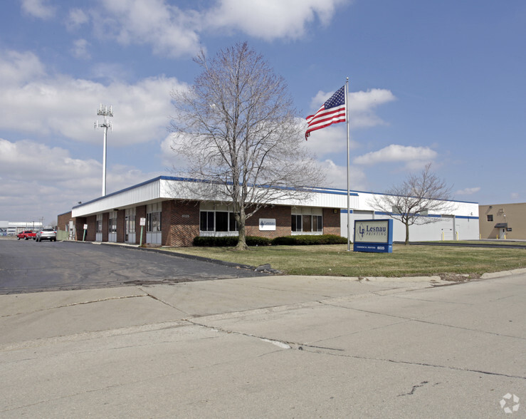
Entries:
[[265, 275], [152, 249], [0, 239], [0, 294], [170, 284]]

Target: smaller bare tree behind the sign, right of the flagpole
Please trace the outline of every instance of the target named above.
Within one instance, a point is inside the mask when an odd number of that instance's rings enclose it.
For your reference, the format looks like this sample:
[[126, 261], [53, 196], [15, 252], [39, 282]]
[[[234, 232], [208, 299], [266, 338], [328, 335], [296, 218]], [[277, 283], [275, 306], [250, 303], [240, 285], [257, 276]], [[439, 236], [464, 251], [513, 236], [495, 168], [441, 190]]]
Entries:
[[[391, 187], [385, 195], [374, 195], [372, 207], [398, 219], [406, 226], [409, 244], [409, 226], [439, 221], [437, 213], [450, 212], [451, 187], [431, 172], [428, 163], [420, 175], [409, 175], [401, 185]], [[435, 217], [430, 217], [434, 214]]]

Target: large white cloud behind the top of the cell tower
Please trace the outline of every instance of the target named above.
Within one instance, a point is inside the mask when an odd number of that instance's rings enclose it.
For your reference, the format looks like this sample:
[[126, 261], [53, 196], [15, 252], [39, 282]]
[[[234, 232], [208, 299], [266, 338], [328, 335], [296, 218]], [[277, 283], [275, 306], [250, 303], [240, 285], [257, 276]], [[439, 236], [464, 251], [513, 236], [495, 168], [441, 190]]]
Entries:
[[170, 92], [184, 88], [177, 79], [164, 76], [105, 86], [48, 75], [34, 54], [12, 52], [0, 52], [0, 80], [1, 129], [98, 143], [101, 134], [94, 133], [93, 125], [99, 104], [104, 103], [113, 106], [110, 135], [117, 146], [164, 137], [173, 113]]

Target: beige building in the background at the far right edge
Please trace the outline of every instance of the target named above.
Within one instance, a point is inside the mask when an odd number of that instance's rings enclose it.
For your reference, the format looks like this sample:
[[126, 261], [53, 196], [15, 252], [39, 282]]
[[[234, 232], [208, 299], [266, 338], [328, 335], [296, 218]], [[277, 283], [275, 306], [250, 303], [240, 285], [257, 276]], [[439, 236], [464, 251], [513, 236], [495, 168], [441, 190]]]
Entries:
[[482, 239], [526, 239], [526, 202], [479, 205]]

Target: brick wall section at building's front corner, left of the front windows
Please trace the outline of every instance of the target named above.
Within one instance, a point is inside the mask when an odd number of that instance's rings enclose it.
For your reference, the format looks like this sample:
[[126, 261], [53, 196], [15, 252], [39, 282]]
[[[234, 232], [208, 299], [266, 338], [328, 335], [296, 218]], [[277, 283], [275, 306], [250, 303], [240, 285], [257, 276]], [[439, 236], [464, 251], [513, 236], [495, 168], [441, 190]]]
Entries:
[[191, 246], [199, 236], [199, 202], [162, 202], [163, 246]]

